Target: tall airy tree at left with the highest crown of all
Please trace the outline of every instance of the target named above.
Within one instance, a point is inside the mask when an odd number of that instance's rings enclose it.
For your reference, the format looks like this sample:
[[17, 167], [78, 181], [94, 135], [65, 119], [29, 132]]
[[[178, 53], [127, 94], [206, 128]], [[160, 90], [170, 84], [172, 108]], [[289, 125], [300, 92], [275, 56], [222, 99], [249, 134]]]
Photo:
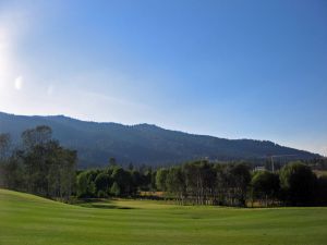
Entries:
[[75, 185], [77, 152], [60, 146], [45, 125], [24, 131], [22, 140], [26, 191], [69, 199]]

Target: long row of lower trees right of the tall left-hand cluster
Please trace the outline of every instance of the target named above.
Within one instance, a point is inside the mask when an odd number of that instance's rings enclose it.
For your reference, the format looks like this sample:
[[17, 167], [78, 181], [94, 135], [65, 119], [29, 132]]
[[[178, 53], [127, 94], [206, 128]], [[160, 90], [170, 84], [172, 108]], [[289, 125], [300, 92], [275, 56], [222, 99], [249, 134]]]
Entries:
[[181, 205], [315, 206], [327, 205], [327, 176], [317, 177], [310, 167], [295, 161], [272, 173], [253, 171], [247, 163], [192, 161], [170, 168], [140, 171], [110, 164], [81, 171], [78, 197], [138, 196], [160, 192]]

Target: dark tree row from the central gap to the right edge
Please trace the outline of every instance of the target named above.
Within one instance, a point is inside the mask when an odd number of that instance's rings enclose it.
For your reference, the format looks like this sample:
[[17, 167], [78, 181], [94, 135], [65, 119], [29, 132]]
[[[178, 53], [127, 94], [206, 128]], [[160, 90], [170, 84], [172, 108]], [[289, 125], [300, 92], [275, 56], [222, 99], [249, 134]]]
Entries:
[[279, 172], [252, 172], [244, 163], [189, 162], [159, 169], [157, 187], [181, 204], [251, 206], [327, 205], [327, 176], [291, 162]]

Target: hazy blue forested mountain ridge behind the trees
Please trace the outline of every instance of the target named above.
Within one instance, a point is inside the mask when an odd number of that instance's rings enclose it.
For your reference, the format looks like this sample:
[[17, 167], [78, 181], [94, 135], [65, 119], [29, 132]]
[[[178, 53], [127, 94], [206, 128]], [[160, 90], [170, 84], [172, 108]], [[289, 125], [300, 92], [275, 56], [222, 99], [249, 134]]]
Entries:
[[15, 143], [21, 133], [49, 125], [53, 137], [78, 151], [80, 167], [100, 167], [110, 157], [128, 164], [172, 164], [187, 160], [254, 160], [270, 155], [293, 155], [292, 159], [320, 157], [268, 140], [226, 139], [170, 131], [150, 124], [86, 122], [64, 115], [14, 115], [0, 112], [0, 133], [10, 133]]

